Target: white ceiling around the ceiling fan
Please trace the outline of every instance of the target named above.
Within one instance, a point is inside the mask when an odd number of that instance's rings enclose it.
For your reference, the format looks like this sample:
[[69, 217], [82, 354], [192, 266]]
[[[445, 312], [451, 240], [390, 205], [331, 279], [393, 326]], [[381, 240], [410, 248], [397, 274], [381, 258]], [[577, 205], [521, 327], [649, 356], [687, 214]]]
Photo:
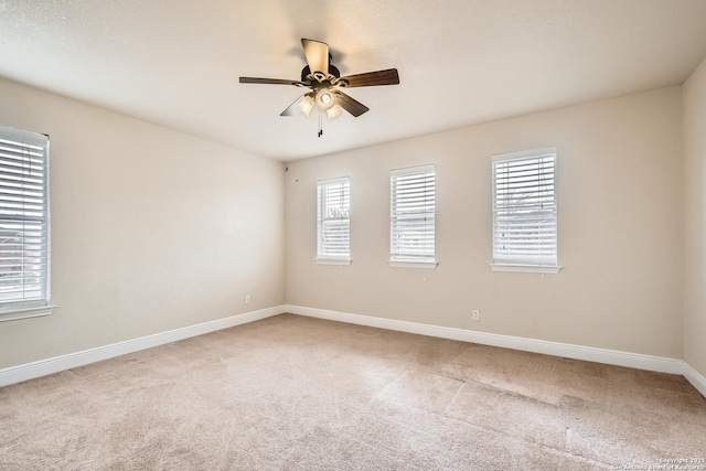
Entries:
[[[371, 110], [279, 114], [301, 38]], [[683, 83], [706, 57], [706, 0], [0, 0], [0, 75], [289, 161]]]

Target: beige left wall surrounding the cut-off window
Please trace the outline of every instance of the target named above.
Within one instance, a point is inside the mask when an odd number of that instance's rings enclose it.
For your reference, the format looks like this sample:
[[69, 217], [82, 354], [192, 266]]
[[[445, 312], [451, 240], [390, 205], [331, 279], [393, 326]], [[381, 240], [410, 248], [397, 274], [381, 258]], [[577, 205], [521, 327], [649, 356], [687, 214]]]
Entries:
[[7, 81], [0, 103], [51, 136], [60, 307], [0, 323], [0, 368], [284, 303], [280, 162]]

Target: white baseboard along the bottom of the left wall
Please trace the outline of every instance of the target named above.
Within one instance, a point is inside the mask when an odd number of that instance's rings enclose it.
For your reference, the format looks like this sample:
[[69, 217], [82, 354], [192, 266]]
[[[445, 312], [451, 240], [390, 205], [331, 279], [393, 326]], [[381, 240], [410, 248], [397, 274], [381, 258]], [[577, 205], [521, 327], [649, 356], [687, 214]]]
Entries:
[[259, 321], [260, 319], [278, 315], [282, 312], [285, 312], [285, 306], [276, 306], [274, 308], [246, 312], [244, 314], [231, 315], [228, 318], [217, 319], [215, 321], [203, 322], [195, 325], [189, 325], [181, 329], [174, 329], [167, 332], [146, 335], [139, 339], [132, 339], [110, 345], [84, 350], [82, 352], [68, 353], [66, 355], [54, 356], [51, 358], [40, 360], [38, 362], [26, 363], [23, 365], [11, 366], [9, 368], [0, 370], [0, 386], [7, 386], [26, 379], [45, 376], [52, 373], [58, 373], [64, 370], [75, 368], [77, 366], [87, 365], [89, 363], [125, 355], [127, 353], [133, 353], [140, 350], [163, 345], [165, 343], [176, 342], [179, 340], [184, 340], [196, 335], [203, 335], [204, 333], [240, 325], [248, 322]]

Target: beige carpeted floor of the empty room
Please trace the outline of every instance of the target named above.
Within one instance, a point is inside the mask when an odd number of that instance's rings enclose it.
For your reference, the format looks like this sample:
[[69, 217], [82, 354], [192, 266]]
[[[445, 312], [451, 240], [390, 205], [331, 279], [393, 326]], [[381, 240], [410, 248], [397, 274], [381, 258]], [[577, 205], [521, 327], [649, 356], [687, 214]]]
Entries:
[[706, 399], [681, 376], [291, 314], [0, 388], [2, 470], [593, 470], [705, 457]]

